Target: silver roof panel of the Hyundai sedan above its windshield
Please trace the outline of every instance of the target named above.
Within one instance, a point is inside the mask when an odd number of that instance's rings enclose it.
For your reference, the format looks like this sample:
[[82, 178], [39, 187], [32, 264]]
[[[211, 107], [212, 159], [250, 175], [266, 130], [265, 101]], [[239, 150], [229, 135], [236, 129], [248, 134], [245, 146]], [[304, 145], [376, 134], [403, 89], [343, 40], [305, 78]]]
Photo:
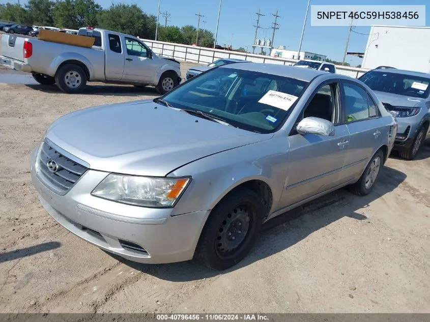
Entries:
[[319, 75], [327, 75], [326, 72], [310, 69], [310, 68], [300, 68], [294, 66], [278, 65], [278, 64], [261, 64], [261, 63], [237, 63], [237, 64], [227, 64], [219, 66], [218, 68], [231, 68], [231, 69], [241, 69], [248, 70], [252, 72], [260, 72], [266, 74], [273, 74], [283, 77], [291, 77], [299, 80], [310, 81], [314, 77]]

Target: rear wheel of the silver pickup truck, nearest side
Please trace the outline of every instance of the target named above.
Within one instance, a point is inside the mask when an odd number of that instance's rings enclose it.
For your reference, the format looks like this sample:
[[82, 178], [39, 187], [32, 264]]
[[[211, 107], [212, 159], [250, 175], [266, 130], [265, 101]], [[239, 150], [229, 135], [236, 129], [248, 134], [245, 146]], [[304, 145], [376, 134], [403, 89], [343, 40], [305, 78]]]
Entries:
[[63, 92], [77, 94], [85, 88], [87, 75], [85, 75], [82, 67], [75, 64], [66, 64], [56, 72], [55, 83]]

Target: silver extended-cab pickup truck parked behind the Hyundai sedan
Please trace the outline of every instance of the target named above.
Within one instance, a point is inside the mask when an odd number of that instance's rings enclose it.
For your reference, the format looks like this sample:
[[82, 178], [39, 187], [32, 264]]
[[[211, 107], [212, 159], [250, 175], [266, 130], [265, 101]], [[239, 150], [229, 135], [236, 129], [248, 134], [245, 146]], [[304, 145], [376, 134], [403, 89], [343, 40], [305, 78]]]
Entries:
[[136, 37], [92, 27], [80, 28], [78, 35], [95, 38], [93, 47], [3, 35], [0, 63], [72, 94], [87, 81], [154, 85], [160, 94], [181, 82], [180, 63], [157, 56]]

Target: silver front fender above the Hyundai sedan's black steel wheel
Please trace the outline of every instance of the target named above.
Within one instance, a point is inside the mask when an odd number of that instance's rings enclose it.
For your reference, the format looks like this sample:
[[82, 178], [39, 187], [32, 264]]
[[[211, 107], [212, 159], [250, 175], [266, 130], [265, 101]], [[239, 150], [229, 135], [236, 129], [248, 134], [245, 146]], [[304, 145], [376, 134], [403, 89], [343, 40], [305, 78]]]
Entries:
[[172, 215], [212, 210], [232, 189], [250, 180], [265, 182], [272, 192], [272, 210], [277, 207], [286, 178], [288, 149], [285, 138], [271, 138], [196, 160], [167, 176], [191, 175], [190, 186]]

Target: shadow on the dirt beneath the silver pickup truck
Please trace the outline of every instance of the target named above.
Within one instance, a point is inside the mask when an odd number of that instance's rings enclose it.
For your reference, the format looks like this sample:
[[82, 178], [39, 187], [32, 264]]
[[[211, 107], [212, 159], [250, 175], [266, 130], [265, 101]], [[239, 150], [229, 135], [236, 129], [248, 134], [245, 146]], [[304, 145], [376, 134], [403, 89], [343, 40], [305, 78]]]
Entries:
[[154, 87], [136, 87], [132, 85], [87, 85], [82, 93], [67, 94], [62, 92], [55, 85], [39, 85], [39, 84], [26, 84], [33, 90], [41, 91], [44, 93], [64, 94], [64, 95], [103, 95], [103, 96], [154, 96], [158, 97]]

